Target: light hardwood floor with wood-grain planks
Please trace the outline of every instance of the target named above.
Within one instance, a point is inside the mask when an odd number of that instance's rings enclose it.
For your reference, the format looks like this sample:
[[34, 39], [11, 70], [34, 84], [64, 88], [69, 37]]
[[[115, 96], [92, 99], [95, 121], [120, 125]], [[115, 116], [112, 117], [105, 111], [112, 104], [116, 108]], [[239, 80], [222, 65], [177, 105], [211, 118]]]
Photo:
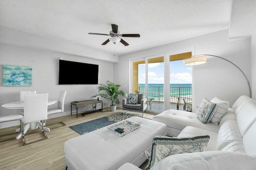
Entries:
[[[75, 131], [71, 130], [69, 126], [111, 115], [117, 112], [122, 112], [121, 108], [116, 111], [106, 111], [91, 113], [85, 116], [76, 114], [48, 119], [47, 124], [63, 121], [66, 126], [46, 132], [48, 139], [23, 146], [22, 139], [11, 139], [0, 142], [0, 170], [65, 170], [65, 154], [64, 143], [71, 138], [80, 136]], [[128, 113], [142, 116], [142, 113], [131, 112]], [[152, 119], [154, 114], [144, 113], [144, 117]], [[0, 135], [15, 131], [15, 127], [8, 127], [0, 129]], [[49, 128], [51, 128], [49, 126]], [[39, 133], [38, 133], [39, 132]], [[35, 137], [40, 137], [40, 130], [29, 131], [25, 137], [33, 140]], [[18, 133], [13, 136], [16, 137]], [[10, 136], [9, 136], [10, 137]], [[140, 166], [143, 170], [147, 165], [147, 161]]]

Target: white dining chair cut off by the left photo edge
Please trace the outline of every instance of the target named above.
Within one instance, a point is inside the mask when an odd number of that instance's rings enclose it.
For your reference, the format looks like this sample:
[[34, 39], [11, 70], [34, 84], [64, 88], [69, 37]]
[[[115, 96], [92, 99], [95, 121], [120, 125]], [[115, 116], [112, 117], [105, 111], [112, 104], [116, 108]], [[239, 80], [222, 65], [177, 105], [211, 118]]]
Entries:
[[[8, 121], [20, 121], [20, 128], [21, 128], [22, 127], [22, 118], [23, 118], [22, 114], [1, 115], [0, 116], [0, 123], [8, 122]], [[14, 133], [17, 133], [17, 132], [14, 132]], [[12, 135], [14, 133], [9, 133], [7, 135], [1, 135], [0, 138], [2, 138], [4, 136]], [[15, 137], [10, 136], [9, 138], [3, 138], [3, 139], [0, 139], [0, 142], [8, 141], [10, 139], [15, 139]]]

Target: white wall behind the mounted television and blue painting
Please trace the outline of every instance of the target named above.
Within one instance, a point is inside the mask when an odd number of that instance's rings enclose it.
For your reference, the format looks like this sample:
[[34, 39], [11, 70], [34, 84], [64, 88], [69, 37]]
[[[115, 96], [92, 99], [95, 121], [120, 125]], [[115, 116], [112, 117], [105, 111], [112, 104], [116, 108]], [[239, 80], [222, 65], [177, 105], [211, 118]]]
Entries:
[[[97, 85], [58, 85], [58, 59], [63, 58], [68, 61], [76, 61], [81, 63], [90, 63], [99, 65], [99, 83], [106, 80], [113, 81], [113, 63], [107, 61], [99, 61], [77, 57], [74, 55], [65, 55], [62, 53], [31, 49], [27, 47], [18, 47], [15, 45], [7, 45], [0, 43], [0, 106], [8, 102], [19, 100], [19, 92], [22, 90], [37, 90], [38, 93], [48, 93], [49, 99], [58, 99], [60, 90], [66, 90], [66, 99], [64, 104], [64, 113], [50, 115], [58, 117], [62, 115], [70, 115], [70, 102], [87, 100], [90, 96], [97, 93]], [[2, 86], [2, 70], [3, 64], [32, 66], [32, 86], [28, 87], [3, 87]], [[68, 69], [68, 68], [67, 68]], [[70, 70], [72, 73], [72, 70]], [[76, 73], [72, 73], [76, 74]], [[82, 73], [84, 78], [90, 78], [90, 72]], [[72, 78], [72, 76], [67, 78]], [[104, 103], [108, 103], [104, 101]], [[56, 104], [54, 105], [56, 106]], [[52, 106], [50, 106], [52, 107]], [[82, 107], [84, 109], [92, 107]], [[73, 110], [75, 111], [75, 110]], [[16, 109], [6, 109], [0, 107], [0, 115], [9, 113], [18, 113]], [[8, 127], [18, 122], [1, 123], [0, 128]]]

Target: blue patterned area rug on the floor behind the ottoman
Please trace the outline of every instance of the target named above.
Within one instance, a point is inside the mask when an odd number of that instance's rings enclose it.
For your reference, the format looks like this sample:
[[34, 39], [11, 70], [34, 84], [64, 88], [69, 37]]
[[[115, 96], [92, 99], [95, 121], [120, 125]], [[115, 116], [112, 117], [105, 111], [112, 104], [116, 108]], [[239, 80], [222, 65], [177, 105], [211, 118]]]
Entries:
[[119, 112], [119, 113], [115, 113], [112, 115], [108, 115], [106, 117], [102, 117], [102, 118], [94, 119], [94, 120], [87, 121], [84, 123], [80, 123], [78, 125], [70, 126], [70, 129], [76, 131], [80, 135], [83, 135], [85, 133], [94, 131], [96, 129], [100, 129], [102, 127], [111, 125], [113, 123], [122, 121], [124, 119], [128, 119], [133, 116], [135, 116], [135, 115]]

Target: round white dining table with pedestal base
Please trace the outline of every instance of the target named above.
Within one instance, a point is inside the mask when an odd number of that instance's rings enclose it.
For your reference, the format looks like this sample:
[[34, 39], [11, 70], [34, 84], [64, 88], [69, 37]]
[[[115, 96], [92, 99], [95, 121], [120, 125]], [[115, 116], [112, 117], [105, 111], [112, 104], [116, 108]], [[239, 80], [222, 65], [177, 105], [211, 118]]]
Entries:
[[[48, 100], [47, 105], [53, 105], [55, 103], [57, 103], [57, 100]], [[17, 102], [10, 102], [10, 103], [6, 103], [3, 104], [2, 107], [5, 107], [6, 109], [24, 109], [24, 101], [17, 101]], [[36, 121], [36, 122], [30, 122], [28, 124], [25, 125], [24, 127], [24, 134], [28, 131], [28, 130], [34, 130], [37, 129], [38, 127], [42, 128], [42, 123], [40, 121]], [[16, 132], [19, 132], [20, 128], [16, 129]], [[44, 131], [48, 132], [50, 131], [50, 129], [48, 127], [44, 127]], [[16, 139], [20, 139], [22, 136], [22, 134], [20, 133]]]

